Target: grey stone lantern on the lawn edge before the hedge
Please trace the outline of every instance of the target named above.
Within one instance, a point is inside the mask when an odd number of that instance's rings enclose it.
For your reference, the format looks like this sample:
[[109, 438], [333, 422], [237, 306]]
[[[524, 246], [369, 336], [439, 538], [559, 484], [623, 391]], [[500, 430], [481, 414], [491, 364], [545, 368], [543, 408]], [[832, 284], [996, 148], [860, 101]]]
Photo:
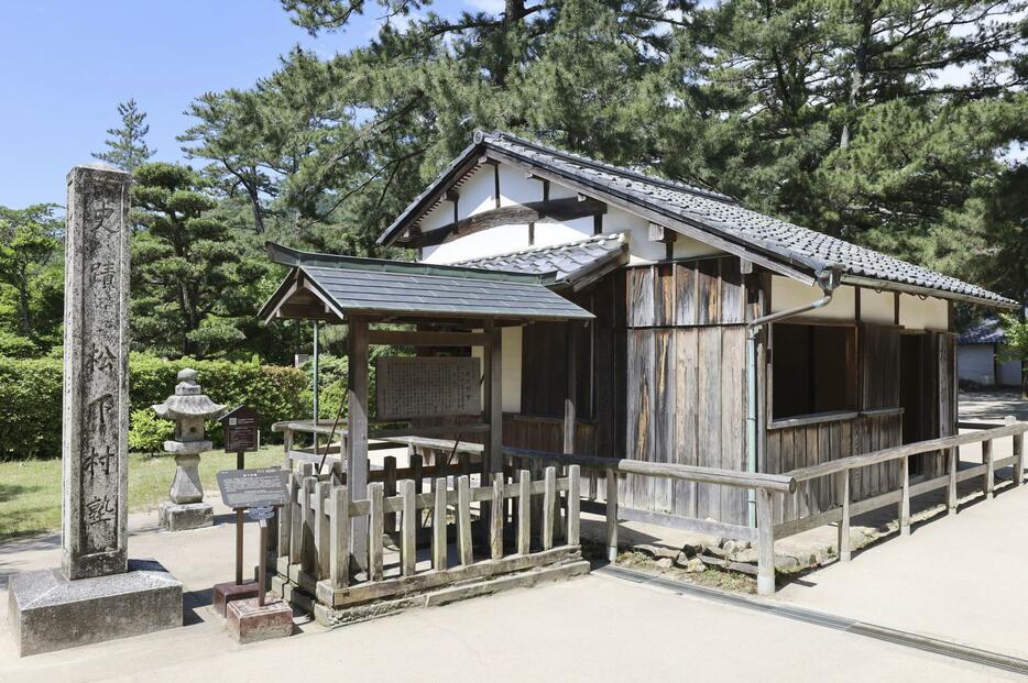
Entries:
[[200, 453], [209, 451], [211, 442], [204, 438], [204, 420], [225, 410], [207, 398], [196, 383], [192, 368], [178, 373], [175, 393], [163, 404], [153, 406], [157, 417], [175, 421], [175, 439], [164, 442], [164, 450], [175, 455], [175, 480], [171, 500], [161, 504], [161, 526], [168, 531], [198, 529], [214, 524], [214, 506], [204, 502], [200, 483]]

